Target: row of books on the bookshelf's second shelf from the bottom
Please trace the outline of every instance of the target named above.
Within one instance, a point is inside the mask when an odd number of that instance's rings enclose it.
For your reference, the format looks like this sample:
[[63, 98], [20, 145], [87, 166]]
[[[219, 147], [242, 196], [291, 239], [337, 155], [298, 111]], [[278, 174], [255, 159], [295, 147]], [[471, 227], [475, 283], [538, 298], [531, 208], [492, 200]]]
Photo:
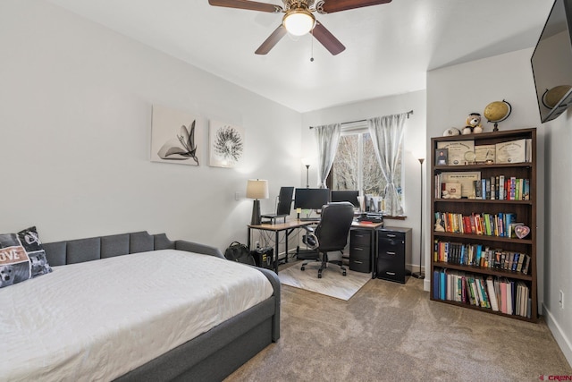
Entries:
[[530, 255], [492, 249], [482, 244], [435, 241], [433, 260], [449, 264], [486, 267], [528, 274]]

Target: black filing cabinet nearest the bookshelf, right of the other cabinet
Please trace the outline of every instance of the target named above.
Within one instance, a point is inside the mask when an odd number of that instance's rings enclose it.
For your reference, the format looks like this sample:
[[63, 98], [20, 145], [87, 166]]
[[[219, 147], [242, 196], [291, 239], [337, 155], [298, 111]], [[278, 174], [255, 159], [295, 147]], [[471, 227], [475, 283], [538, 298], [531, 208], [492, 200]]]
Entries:
[[411, 275], [411, 228], [384, 227], [377, 231], [377, 278], [405, 284]]

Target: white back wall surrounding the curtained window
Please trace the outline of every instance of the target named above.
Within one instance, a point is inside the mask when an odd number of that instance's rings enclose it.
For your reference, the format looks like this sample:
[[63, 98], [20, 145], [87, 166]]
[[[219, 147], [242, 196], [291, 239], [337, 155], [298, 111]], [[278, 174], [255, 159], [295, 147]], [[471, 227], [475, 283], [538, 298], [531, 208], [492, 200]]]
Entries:
[[[414, 272], [419, 264], [420, 242], [420, 211], [421, 211], [421, 165], [418, 158], [425, 154], [425, 90], [414, 91], [391, 97], [374, 98], [354, 104], [334, 106], [325, 109], [308, 112], [302, 115], [302, 157], [317, 157], [314, 131], [309, 126], [317, 126], [328, 123], [344, 123], [359, 121], [366, 118], [382, 115], [394, 115], [413, 110], [405, 123], [405, 148], [403, 153], [404, 184], [403, 200], [405, 220], [386, 219], [385, 226], [413, 228], [413, 264]], [[302, 168], [302, 165], [299, 165]], [[310, 186], [316, 186], [317, 165], [310, 167]], [[306, 183], [306, 167], [303, 167], [303, 183]], [[426, 161], [423, 164], [423, 172], [426, 171]], [[426, 200], [424, 200], [426, 206]], [[425, 231], [425, 230], [424, 230]], [[425, 235], [425, 232], [424, 232]]]

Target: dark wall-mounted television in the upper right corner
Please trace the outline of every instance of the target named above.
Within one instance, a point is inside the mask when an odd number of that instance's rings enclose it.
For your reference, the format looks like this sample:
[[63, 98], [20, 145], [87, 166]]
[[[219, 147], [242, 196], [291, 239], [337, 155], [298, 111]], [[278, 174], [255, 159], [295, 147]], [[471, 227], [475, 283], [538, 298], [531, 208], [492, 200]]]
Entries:
[[541, 121], [572, 105], [572, 0], [556, 0], [530, 59]]

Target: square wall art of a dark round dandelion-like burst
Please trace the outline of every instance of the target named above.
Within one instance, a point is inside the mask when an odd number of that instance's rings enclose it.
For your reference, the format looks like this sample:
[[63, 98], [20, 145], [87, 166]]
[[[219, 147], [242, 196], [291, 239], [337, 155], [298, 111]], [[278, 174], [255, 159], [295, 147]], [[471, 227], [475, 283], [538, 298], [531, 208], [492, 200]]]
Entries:
[[244, 155], [244, 129], [229, 123], [209, 123], [210, 166], [234, 167]]

